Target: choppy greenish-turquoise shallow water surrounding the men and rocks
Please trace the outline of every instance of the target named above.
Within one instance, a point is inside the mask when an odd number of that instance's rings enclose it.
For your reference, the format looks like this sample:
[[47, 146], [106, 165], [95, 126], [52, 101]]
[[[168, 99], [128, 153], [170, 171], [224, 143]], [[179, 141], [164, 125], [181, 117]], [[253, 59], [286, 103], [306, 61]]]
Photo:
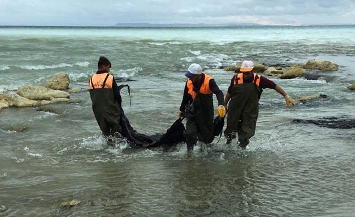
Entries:
[[[352, 26], [0, 28], [0, 92], [43, 85], [66, 71], [70, 87], [80, 88], [71, 98], [82, 101], [0, 112], [0, 216], [352, 216], [354, 129], [292, 120], [355, 117], [355, 92], [347, 89], [355, 74], [353, 33]], [[294, 99], [328, 97], [287, 108], [265, 90], [246, 150], [222, 137], [189, 154], [185, 144], [106, 146], [87, 91], [100, 55], [112, 61], [115, 77], [135, 80], [122, 83], [132, 90], [132, 107], [122, 91], [123, 107], [145, 134], [164, 132], [176, 119], [190, 63], [200, 63], [224, 93], [233, 74], [219, 68], [244, 58], [269, 65], [320, 58], [340, 69], [321, 73], [327, 81], [272, 78]], [[60, 206], [72, 199], [81, 203]]]

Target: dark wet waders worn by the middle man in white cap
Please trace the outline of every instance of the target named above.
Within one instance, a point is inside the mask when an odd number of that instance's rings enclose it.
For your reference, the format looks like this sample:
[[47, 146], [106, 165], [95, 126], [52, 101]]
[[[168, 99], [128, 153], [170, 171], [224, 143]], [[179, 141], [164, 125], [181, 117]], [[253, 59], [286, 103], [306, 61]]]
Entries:
[[206, 144], [213, 141], [212, 95], [197, 92], [193, 102], [185, 108], [187, 121], [184, 135], [188, 148], [193, 147], [197, 139]]

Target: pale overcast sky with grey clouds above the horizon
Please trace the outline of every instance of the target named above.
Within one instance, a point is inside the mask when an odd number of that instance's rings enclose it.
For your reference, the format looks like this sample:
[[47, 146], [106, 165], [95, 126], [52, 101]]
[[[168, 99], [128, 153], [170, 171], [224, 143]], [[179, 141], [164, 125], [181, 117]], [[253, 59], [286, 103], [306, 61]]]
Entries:
[[0, 0], [0, 25], [355, 24], [355, 0]]

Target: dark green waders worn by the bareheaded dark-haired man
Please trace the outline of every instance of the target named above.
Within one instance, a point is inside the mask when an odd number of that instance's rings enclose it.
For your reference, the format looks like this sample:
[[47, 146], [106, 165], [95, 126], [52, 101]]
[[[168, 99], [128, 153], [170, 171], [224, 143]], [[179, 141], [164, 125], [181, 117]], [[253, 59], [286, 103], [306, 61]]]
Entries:
[[118, 102], [115, 102], [113, 89], [95, 88], [89, 92], [93, 112], [103, 134], [109, 136], [120, 133], [121, 108]]

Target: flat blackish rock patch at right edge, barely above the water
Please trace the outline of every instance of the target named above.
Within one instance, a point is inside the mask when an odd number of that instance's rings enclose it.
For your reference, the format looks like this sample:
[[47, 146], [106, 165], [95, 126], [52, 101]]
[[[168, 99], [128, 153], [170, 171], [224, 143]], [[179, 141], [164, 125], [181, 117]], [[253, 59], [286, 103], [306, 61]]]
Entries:
[[355, 127], [355, 119], [349, 119], [345, 117], [324, 117], [318, 120], [294, 119], [293, 123], [311, 123], [320, 127], [327, 127], [332, 129], [351, 129]]

